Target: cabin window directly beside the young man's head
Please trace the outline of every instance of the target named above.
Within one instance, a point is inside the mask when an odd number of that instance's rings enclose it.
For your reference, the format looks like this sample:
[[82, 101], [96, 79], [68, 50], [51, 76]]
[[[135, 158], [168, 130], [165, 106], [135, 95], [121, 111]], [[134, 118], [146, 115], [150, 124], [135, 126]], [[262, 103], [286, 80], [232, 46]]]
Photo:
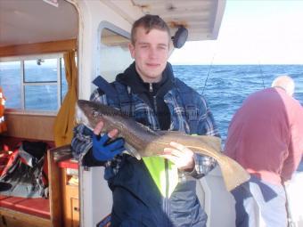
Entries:
[[99, 74], [109, 81], [114, 80], [133, 61], [128, 51], [130, 40], [127, 36], [125, 31], [118, 28], [101, 30]]

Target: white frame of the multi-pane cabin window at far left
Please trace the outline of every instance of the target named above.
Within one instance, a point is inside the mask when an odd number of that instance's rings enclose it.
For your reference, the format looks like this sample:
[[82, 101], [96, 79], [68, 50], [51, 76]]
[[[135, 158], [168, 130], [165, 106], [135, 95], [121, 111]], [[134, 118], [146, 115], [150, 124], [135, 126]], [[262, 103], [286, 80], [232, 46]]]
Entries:
[[[45, 81], [45, 82], [26, 82], [25, 81], [25, 69], [24, 61], [33, 60], [44, 60], [44, 59], [57, 59], [57, 81]], [[6, 113], [13, 114], [29, 114], [29, 115], [43, 115], [43, 116], [56, 116], [59, 109], [61, 108], [61, 61], [63, 60], [63, 53], [43, 53], [33, 54], [24, 56], [11, 56], [11, 57], [0, 57], [0, 62], [9, 61], [20, 61], [20, 109], [5, 108]], [[57, 106], [56, 110], [45, 110], [45, 109], [25, 109], [25, 86], [26, 85], [57, 85]], [[4, 93], [5, 95], [5, 93]]]

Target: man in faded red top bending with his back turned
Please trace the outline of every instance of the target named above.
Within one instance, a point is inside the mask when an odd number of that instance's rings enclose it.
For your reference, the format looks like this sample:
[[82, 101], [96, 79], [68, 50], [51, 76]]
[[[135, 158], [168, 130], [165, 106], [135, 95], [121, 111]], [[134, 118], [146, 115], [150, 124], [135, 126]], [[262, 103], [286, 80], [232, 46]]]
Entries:
[[233, 191], [237, 227], [258, 226], [258, 212], [266, 227], [287, 226], [283, 183], [302, 157], [303, 113], [291, 97], [291, 77], [277, 77], [272, 86], [250, 94], [228, 129], [225, 154], [251, 175]]

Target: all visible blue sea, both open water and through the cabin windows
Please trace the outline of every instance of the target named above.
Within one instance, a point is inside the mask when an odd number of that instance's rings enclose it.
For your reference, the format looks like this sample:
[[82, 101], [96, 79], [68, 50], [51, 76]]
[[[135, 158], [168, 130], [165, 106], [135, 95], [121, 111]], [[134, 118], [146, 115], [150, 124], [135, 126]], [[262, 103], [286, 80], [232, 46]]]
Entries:
[[[274, 77], [290, 75], [296, 82], [295, 98], [303, 104], [303, 65], [174, 65], [175, 76], [203, 94], [225, 141], [227, 128], [236, 109], [250, 94], [271, 85]], [[64, 71], [64, 70], [63, 70]], [[56, 69], [28, 69], [27, 81], [55, 81]], [[8, 107], [20, 107], [20, 81], [15, 67], [0, 65], [0, 85], [4, 88]], [[61, 79], [61, 97], [67, 85]], [[56, 85], [28, 85], [25, 91], [27, 109], [57, 109]]]

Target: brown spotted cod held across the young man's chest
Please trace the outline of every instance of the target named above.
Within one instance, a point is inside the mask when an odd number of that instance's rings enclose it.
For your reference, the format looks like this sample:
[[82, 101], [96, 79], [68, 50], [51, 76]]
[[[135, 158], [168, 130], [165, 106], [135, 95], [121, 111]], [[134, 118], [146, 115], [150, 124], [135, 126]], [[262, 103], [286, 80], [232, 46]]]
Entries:
[[164, 148], [170, 147], [169, 142], [178, 142], [195, 153], [215, 158], [228, 191], [250, 179], [250, 174], [242, 166], [220, 152], [221, 139], [216, 136], [153, 131], [133, 118], [127, 117], [120, 110], [94, 101], [79, 100], [77, 114], [78, 123], [91, 129], [94, 129], [100, 121], [104, 123], [102, 128], [104, 133], [117, 128], [119, 136], [126, 141], [127, 151], [135, 158], [161, 155]]

